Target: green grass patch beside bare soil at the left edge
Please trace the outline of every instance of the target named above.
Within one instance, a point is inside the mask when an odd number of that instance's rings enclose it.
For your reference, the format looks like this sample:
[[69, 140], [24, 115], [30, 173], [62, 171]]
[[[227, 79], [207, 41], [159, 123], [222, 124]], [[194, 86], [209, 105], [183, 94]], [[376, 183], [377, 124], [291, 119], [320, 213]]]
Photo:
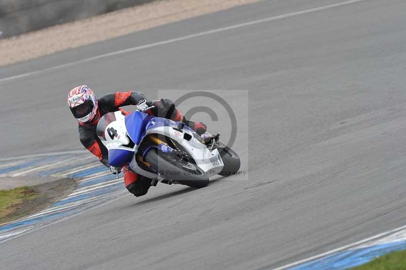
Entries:
[[13, 214], [25, 200], [36, 196], [37, 193], [30, 187], [0, 190], [0, 219]]

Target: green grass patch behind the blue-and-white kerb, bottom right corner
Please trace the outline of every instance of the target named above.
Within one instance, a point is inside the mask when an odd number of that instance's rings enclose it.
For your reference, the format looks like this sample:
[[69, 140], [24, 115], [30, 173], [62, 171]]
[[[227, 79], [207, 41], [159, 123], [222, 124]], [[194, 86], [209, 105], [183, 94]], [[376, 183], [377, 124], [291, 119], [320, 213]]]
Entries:
[[404, 270], [406, 269], [406, 250], [388, 253], [354, 270]]

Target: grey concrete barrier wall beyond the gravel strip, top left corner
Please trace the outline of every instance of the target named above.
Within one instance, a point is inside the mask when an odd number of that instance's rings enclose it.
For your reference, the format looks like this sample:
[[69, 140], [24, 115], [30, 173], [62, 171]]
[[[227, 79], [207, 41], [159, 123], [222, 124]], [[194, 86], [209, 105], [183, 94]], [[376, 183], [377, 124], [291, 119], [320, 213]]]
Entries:
[[154, 0], [0, 0], [2, 37], [38, 30]]

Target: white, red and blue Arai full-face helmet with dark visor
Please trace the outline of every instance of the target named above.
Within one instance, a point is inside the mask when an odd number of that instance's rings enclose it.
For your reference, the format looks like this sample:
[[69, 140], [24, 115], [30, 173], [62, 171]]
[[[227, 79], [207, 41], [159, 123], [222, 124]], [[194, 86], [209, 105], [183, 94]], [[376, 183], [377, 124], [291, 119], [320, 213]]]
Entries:
[[92, 89], [81, 85], [67, 95], [67, 106], [79, 123], [86, 124], [97, 115], [97, 99]]

